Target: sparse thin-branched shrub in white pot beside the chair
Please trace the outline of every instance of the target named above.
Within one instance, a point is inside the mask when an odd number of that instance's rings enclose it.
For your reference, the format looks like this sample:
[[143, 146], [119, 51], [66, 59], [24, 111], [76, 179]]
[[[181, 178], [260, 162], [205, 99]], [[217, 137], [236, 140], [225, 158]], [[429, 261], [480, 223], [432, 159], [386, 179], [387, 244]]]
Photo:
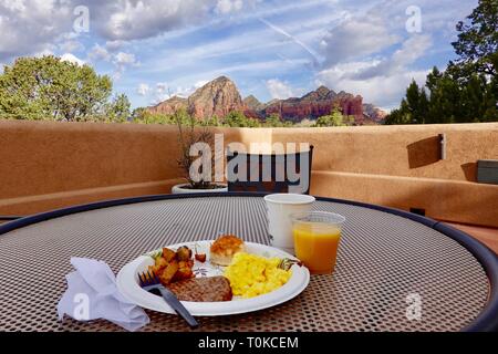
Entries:
[[[187, 180], [185, 184], [175, 185], [172, 188], [173, 194], [185, 192], [217, 192], [227, 191], [228, 187], [225, 184], [215, 181], [215, 154], [211, 154], [210, 158], [210, 178], [205, 180], [199, 178], [201, 174], [193, 176], [190, 174], [194, 162], [199, 158], [198, 156], [190, 156], [190, 146], [196, 143], [207, 144], [210, 152], [214, 152], [215, 135], [206, 126], [196, 127], [196, 119], [191, 115], [188, 115], [185, 111], [178, 111], [174, 115], [175, 123], [178, 126], [178, 143], [180, 147], [180, 157], [178, 158], [178, 166], [184, 173], [184, 178]], [[196, 178], [197, 177], [197, 178]]]

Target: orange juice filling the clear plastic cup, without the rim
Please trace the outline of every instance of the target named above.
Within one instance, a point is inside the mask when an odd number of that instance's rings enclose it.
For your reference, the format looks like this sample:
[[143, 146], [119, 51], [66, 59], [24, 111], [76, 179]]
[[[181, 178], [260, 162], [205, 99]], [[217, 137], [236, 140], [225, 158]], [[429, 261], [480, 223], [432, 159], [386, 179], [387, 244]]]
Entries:
[[314, 274], [326, 274], [334, 270], [341, 229], [321, 222], [295, 222], [292, 232], [294, 250], [304, 266]]

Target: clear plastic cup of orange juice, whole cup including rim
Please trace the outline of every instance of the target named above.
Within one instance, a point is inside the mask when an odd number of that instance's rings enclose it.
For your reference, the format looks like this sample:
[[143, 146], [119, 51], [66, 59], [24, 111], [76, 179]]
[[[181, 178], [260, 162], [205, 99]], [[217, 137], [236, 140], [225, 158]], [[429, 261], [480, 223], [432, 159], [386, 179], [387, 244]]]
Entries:
[[338, 214], [310, 211], [292, 216], [295, 257], [311, 273], [332, 273], [345, 218]]

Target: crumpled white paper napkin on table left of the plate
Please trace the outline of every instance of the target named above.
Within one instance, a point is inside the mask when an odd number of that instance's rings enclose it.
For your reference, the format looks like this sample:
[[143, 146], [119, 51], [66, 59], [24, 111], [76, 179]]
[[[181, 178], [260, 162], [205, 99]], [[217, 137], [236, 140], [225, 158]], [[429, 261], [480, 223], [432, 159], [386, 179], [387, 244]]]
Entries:
[[108, 320], [127, 331], [136, 331], [149, 319], [145, 311], [117, 290], [113, 271], [103, 261], [71, 258], [76, 269], [65, 278], [68, 290], [58, 304], [59, 320], [64, 314], [77, 321]]

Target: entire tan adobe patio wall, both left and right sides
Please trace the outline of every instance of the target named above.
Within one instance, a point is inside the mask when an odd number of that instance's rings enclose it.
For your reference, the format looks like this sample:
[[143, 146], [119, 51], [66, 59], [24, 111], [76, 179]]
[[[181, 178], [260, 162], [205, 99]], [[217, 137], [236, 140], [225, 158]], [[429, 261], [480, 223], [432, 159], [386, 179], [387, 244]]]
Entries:
[[[498, 159], [498, 124], [216, 131], [226, 144], [313, 144], [314, 195], [498, 227], [498, 186], [475, 183], [477, 159]], [[0, 215], [169, 192], [177, 156], [174, 126], [0, 121]]]

